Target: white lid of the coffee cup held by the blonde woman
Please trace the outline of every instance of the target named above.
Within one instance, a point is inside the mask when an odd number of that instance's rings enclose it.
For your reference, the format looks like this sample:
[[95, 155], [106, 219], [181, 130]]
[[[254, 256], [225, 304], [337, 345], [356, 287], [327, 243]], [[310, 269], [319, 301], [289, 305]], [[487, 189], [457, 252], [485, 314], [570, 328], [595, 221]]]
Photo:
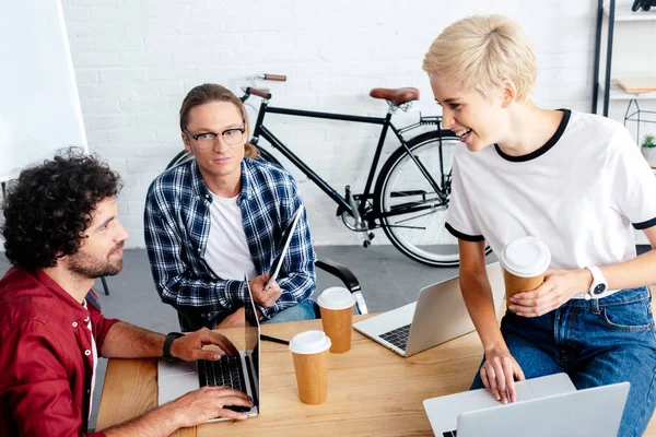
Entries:
[[522, 237], [503, 248], [500, 261], [508, 273], [519, 277], [531, 277], [549, 269], [551, 252], [538, 238]]

